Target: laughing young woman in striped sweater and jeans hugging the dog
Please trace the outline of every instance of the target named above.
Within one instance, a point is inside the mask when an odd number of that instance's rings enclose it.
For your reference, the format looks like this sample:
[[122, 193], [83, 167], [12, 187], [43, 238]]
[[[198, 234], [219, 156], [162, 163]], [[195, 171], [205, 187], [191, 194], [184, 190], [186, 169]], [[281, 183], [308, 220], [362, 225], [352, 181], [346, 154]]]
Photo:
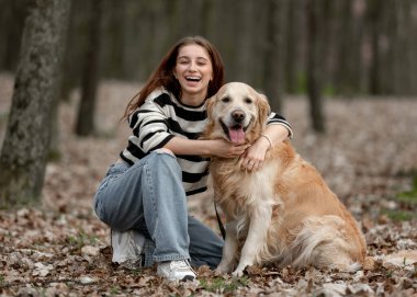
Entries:
[[[202, 156], [240, 156], [246, 170], [257, 170], [271, 145], [266, 137], [250, 147], [198, 139], [206, 124], [204, 102], [223, 83], [216, 48], [203, 37], [185, 37], [127, 105], [132, 135], [94, 197], [95, 214], [112, 229], [113, 262], [156, 262], [158, 275], [170, 281], [192, 281], [191, 266], [219, 263], [223, 240], [187, 210], [187, 196], [206, 190], [208, 160]], [[274, 113], [266, 134], [271, 141], [292, 136]]]

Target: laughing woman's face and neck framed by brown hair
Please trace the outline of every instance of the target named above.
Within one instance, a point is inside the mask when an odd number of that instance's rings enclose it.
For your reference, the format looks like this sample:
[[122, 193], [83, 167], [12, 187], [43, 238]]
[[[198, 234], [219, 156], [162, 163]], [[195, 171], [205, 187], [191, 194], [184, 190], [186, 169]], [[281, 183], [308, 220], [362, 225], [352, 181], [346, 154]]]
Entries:
[[213, 79], [213, 66], [206, 49], [196, 44], [182, 46], [173, 75], [181, 85], [181, 100], [196, 99], [199, 102], [194, 103], [201, 104], [207, 94], [208, 82]]

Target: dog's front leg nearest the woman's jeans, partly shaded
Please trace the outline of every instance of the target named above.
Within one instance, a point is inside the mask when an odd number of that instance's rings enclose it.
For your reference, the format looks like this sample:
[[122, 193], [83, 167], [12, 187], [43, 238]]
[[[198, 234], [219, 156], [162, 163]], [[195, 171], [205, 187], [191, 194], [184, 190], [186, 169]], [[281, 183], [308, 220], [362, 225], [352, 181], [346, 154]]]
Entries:
[[235, 265], [236, 253], [238, 249], [237, 225], [238, 219], [229, 221], [226, 225], [226, 239], [225, 245], [223, 247], [223, 256], [221, 263], [216, 269], [216, 272], [228, 273]]

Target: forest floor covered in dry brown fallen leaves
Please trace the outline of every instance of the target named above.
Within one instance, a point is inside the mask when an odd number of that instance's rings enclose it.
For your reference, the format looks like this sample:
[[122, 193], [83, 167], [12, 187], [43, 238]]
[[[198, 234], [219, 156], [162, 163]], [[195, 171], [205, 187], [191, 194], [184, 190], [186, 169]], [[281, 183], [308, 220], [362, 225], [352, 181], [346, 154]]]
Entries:
[[[13, 78], [0, 73], [0, 142]], [[47, 165], [42, 206], [0, 210], [0, 296], [417, 296], [417, 98], [326, 99], [326, 135], [309, 128], [305, 98], [289, 96], [297, 151], [360, 222], [367, 265], [356, 273], [252, 266], [240, 278], [198, 270], [199, 282], [169, 283], [155, 269], [111, 264], [109, 228], [92, 214], [93, 193], [125, 146], [119, 119], [138, 85], [106, 81], [95, 137], [72, 133], [79, 93], [59, 111], [60, 159]], [[218, 230], [213, 204], [190, 212]]]

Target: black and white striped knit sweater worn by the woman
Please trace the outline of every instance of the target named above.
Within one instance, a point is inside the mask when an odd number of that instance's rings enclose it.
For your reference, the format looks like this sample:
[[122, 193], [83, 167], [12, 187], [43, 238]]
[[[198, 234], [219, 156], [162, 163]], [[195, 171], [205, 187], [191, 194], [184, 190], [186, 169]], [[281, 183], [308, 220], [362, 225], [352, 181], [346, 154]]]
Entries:
[[[158, 89], [128, 118], [133, 134], [127, 147], [120, 153], [128, 164], [134, 164], [150, 151], [162, 148], [172, 137], [198, 139], [207, 123], [205, 105], [182, 104], [173, 94]], [[285, 126], [292, 137], [290, 124], [279, 114], [271, 113], [268, 124]], [[177, 155], [182, 170], [187, 195], [204, 192], [208, 178], [208, 159], [200, 156]]]

